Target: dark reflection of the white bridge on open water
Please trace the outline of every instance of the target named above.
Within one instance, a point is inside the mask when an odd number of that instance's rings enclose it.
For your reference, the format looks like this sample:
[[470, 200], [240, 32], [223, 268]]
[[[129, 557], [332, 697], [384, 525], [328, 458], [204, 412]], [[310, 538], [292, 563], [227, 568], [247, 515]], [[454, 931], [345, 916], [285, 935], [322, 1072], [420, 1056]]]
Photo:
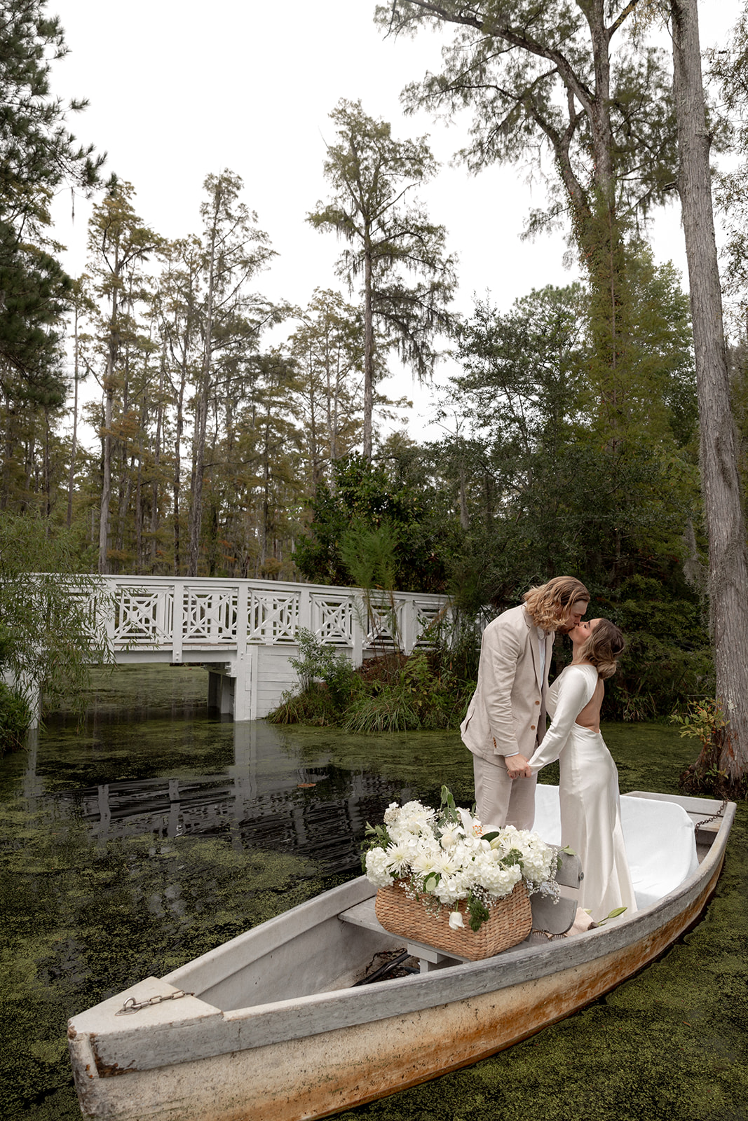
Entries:
[[[118, 726], [117, 721], [109, 723]], [[147, 723], [141, 722], [141, 731]], [[234, 847], [293, 853], [314, 860], [325, 873], [342, 873], [359, 868], [366, 822], [380, 818], [394, 798], [410, 795], [407, 785], [336, 766], [318, 750], [308, 761], [303, 744], [270, 724], [215, 723], [213, 729], [219, 742], [227, 735], [233, 740], [233, 762], [219, 771], [75, 785], [56, 788], [52, 796], [80, 816], [100, 842], [144, 833], [223, 837]], [[141, 736], [144, 742], [147, 738]], [[117, 767], [117, 743], [112, 747], [111, 766]], [[130, 766], [133, 762], [130, 758]], [[31, 752], [27, 797], [44, 790], [37, 767], [38, 757]]]

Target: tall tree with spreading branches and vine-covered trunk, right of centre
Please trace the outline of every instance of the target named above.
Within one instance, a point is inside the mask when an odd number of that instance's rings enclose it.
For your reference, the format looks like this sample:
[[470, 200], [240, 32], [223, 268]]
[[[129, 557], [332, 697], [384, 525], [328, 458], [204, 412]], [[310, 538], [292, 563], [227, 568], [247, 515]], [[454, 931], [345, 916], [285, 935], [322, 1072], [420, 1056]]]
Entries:
[[520, 163], [546, 179], [551, 205], [533, 211], [527, 231], [567, 222], [599, 304], [601, 406], [618, 426], [630, 339], [627, 228], [667, 197], [676, 161], [664, 52], [635, 52], [627, 41], [638, 2], [390, 0], [376, 15], [394, 34], [453, 30], [441, 73], [409, 85], [406, 108], [446, 117], [472, 110], [470, 142], [459, 154], [471, 170]]

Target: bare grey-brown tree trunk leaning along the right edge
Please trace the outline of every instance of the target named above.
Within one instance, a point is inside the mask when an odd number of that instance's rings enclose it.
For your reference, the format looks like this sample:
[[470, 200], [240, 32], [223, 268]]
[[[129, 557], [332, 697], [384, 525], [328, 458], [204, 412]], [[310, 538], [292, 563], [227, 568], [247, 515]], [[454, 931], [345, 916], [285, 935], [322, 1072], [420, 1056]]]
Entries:
[[673, 0], [674, 89], [699, 393], [701, 479], [717, 697], [729, 721], [719, 766], [748, 773], [748, 562], [722, 327], [696, 0]]

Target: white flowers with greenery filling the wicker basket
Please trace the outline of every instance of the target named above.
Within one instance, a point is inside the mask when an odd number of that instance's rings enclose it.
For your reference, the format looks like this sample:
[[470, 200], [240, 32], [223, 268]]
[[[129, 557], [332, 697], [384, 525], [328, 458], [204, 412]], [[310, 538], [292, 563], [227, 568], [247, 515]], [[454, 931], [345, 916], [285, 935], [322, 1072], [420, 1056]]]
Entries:
[[470, 927], [479, 930], [489, 908], [524, 880], [529, 895], [558, 899], [555, 874], [558, 850], [537, 833], [507, 825], [483, 832], [480, 821], [454, 805], [442, 787], [438, 810], [419, 802], [393, 802], [385, 824], [367, 823], [363, 869], [377, 888], [397, 882], [408, 898], [421, 898], [427, 910], [450, 907], [450, 927], [464, 926], [456, 905], [465, 901]]

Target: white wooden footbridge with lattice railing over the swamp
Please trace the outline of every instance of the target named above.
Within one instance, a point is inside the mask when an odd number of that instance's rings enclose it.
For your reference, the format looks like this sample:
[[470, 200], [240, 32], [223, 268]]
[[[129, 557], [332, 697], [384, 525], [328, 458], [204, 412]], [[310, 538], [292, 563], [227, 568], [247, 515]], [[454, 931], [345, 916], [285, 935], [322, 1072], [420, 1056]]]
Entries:
[[198, 664], [209, 704], [237, 721], [267, 715], [297, 682], [299, 628], [347, 651], [353, 665], [377, 652], [412, 654], [433, 641], [449, 611], [443, 595], [268, 580], [102, 576], [91, 604], [114, 661]]

